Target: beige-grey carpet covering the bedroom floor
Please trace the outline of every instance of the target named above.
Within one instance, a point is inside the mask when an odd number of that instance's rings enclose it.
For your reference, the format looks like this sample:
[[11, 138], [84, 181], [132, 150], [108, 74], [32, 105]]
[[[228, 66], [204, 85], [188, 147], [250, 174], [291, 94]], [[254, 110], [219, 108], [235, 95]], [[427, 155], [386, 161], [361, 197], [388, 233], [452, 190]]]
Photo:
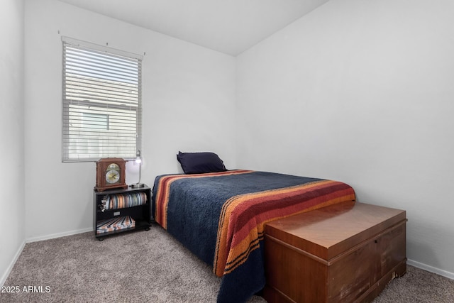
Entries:
[[[216, 302], [220, 282], [154, 225], [104, 241], [81, 233], [28, 243], [4, 284], [18, 292], [0, 302]], [[409, 266], [374, 302], [454, 302], [454, 280]]]

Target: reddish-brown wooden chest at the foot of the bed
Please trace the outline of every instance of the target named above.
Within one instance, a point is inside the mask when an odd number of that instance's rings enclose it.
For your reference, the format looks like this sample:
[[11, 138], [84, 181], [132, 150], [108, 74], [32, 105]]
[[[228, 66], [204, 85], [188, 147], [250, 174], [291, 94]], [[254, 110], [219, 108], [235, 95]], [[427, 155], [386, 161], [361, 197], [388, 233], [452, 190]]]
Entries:
[[406, 272], [406, 212], [345, 202], [265, 226], [267, 302], [371, 302]]

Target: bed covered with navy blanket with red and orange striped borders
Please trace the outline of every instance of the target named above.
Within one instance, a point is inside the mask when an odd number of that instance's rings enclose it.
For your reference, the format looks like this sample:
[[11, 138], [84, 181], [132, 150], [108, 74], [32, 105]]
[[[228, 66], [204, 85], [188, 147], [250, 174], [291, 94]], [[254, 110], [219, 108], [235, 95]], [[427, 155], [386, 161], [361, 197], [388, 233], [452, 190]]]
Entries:
[[155, 221], [213, 266], [218, 302], [245, 302], [265, 286], [267, 222], [355, 200], [343, 182], [223, 165], [192, 171], [179, 155], [184, 174], [155, 178]]

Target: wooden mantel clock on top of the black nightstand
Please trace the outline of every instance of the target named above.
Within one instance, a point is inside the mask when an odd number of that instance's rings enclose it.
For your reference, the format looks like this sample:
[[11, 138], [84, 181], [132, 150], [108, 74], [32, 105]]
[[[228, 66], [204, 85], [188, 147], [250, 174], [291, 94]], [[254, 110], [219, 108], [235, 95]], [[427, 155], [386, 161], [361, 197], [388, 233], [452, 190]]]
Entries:
[[121, 158], [104, 158], [96, 162], [96, 190], [128, 188], [126, 184], [126, 161]]

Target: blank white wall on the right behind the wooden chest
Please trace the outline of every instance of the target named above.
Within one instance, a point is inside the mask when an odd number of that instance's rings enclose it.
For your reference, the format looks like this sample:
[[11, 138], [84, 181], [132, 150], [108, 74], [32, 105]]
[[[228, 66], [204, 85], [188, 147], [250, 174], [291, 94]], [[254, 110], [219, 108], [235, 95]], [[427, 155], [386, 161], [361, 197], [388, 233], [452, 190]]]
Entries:
[[454, 278], [454, 2], [337, 0], [238, 56], [238, 167], [406, 209], [410, 263]]

